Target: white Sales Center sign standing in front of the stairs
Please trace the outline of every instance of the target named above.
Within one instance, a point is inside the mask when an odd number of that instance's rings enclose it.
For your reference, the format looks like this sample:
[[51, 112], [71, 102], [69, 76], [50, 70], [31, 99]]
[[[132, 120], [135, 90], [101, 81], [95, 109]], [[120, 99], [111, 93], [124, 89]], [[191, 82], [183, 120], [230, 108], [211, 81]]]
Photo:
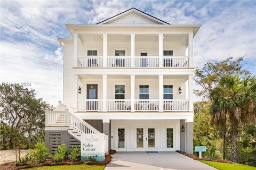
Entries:
[[105, 134], [93, 133], [81, 135], [81, 159], [84, 161], [105, 159]]

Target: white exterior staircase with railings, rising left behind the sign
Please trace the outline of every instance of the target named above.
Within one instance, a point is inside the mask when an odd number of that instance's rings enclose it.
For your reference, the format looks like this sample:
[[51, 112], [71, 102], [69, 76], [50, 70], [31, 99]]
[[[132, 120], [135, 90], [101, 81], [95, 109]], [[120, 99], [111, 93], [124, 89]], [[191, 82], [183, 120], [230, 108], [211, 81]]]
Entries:
[[[59, 102], [54, 111], [45, 111], [45, 127], [47, 129], [67, 128], [68, 133], [81, 141], [82, 134], [101, 133], [89, 123], [69, 112], [65, 105]], [[105, 150], [108, 152], [108, 135], [105, 135]]]

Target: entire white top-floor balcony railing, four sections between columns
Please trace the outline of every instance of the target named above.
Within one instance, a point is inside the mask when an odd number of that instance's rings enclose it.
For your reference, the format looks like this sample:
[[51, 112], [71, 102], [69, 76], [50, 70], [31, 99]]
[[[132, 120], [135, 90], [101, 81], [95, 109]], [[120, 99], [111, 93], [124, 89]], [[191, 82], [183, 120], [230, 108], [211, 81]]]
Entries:
[[[107, 56], [107, 67], [127, 68], [131, 67], [131, 56]], [[103, 56], [77, 57], [78, 67], [103, 67]], [[159, 67], [158, 56], [135, 56], [134, 67], [155, 68]], [[188, 56], [163, 56], [163, 67], [189, 67]]]

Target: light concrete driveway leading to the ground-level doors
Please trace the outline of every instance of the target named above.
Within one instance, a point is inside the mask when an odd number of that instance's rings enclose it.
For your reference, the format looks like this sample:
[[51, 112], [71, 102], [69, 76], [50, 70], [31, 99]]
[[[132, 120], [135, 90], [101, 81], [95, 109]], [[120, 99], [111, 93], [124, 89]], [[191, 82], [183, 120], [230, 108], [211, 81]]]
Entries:
[[216, 170], [178, 152], [116, 152], [106, 170], [116, 169], [173, 169]]

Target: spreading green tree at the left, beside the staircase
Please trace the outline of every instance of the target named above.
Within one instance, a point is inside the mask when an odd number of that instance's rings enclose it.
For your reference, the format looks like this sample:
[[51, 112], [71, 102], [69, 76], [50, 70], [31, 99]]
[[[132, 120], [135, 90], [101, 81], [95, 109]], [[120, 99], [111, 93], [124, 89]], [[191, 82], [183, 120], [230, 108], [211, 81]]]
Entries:
[[[27, 137], [27, 147], [30, 147], [33, 135], [44, 135], [42, 132], [46, 108], [50, 106], [42, 98], [37, 99], [33, 89], [29, 90], [23, 86], [0, 86], [0, 122], [10, 130], [19, 129], [19, 132]], [[13, 149], [15, 135], [8, 131], [5, 133], [9, 133], [9, 148]], [[4, 140], [6, 142], [6, 139]]]

